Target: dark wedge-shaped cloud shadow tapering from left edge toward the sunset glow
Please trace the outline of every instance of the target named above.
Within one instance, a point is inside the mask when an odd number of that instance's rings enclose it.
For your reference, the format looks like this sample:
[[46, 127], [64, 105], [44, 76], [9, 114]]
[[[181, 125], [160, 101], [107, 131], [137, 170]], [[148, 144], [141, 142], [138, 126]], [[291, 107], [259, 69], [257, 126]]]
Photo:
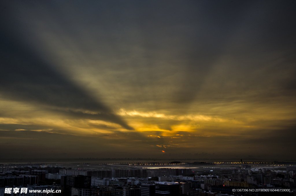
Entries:
[[13, 40], [4, 34], [3, 29], [0, 38], [0, 91], [3, 96], [51, 106], [75, 117], [109, 121], [132, 129], [89, 93], [57, 73], [20, 40]]

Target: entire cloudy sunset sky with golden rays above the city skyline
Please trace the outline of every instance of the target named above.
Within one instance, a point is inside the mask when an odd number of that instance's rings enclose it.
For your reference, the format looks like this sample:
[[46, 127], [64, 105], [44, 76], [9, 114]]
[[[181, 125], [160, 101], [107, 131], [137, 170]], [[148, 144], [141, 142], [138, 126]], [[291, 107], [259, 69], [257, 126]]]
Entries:
[[295, 10], [1, 1], [1, 159], [295, 160]]

